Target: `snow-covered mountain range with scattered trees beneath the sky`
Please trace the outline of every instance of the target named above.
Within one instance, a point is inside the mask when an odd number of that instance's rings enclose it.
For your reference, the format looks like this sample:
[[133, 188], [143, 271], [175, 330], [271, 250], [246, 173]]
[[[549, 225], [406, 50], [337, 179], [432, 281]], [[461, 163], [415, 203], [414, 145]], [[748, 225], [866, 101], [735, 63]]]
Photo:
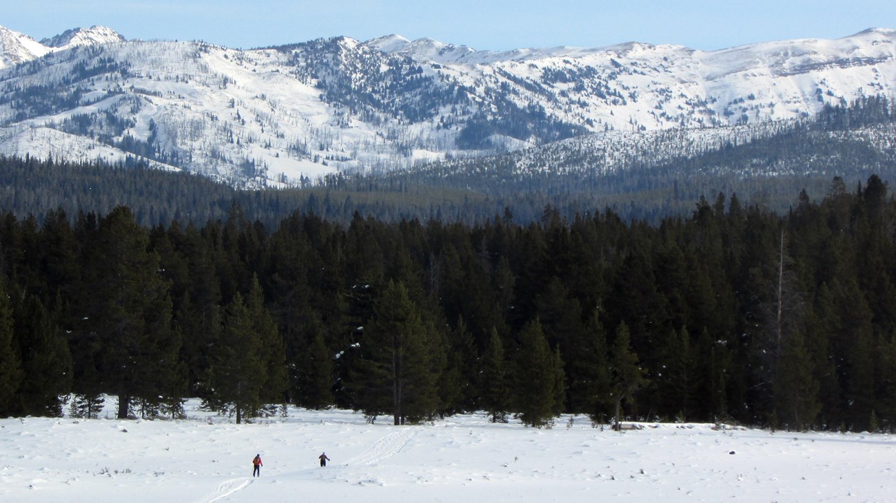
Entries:
[[139, 159], [253, 185], [896, 96], [896, 30], [882, 29], [711, 52], [495, 52], [398, 35], [237, 50], [102, 27], [43, 43], [0, 28], [0, 43], [0, 153]]

